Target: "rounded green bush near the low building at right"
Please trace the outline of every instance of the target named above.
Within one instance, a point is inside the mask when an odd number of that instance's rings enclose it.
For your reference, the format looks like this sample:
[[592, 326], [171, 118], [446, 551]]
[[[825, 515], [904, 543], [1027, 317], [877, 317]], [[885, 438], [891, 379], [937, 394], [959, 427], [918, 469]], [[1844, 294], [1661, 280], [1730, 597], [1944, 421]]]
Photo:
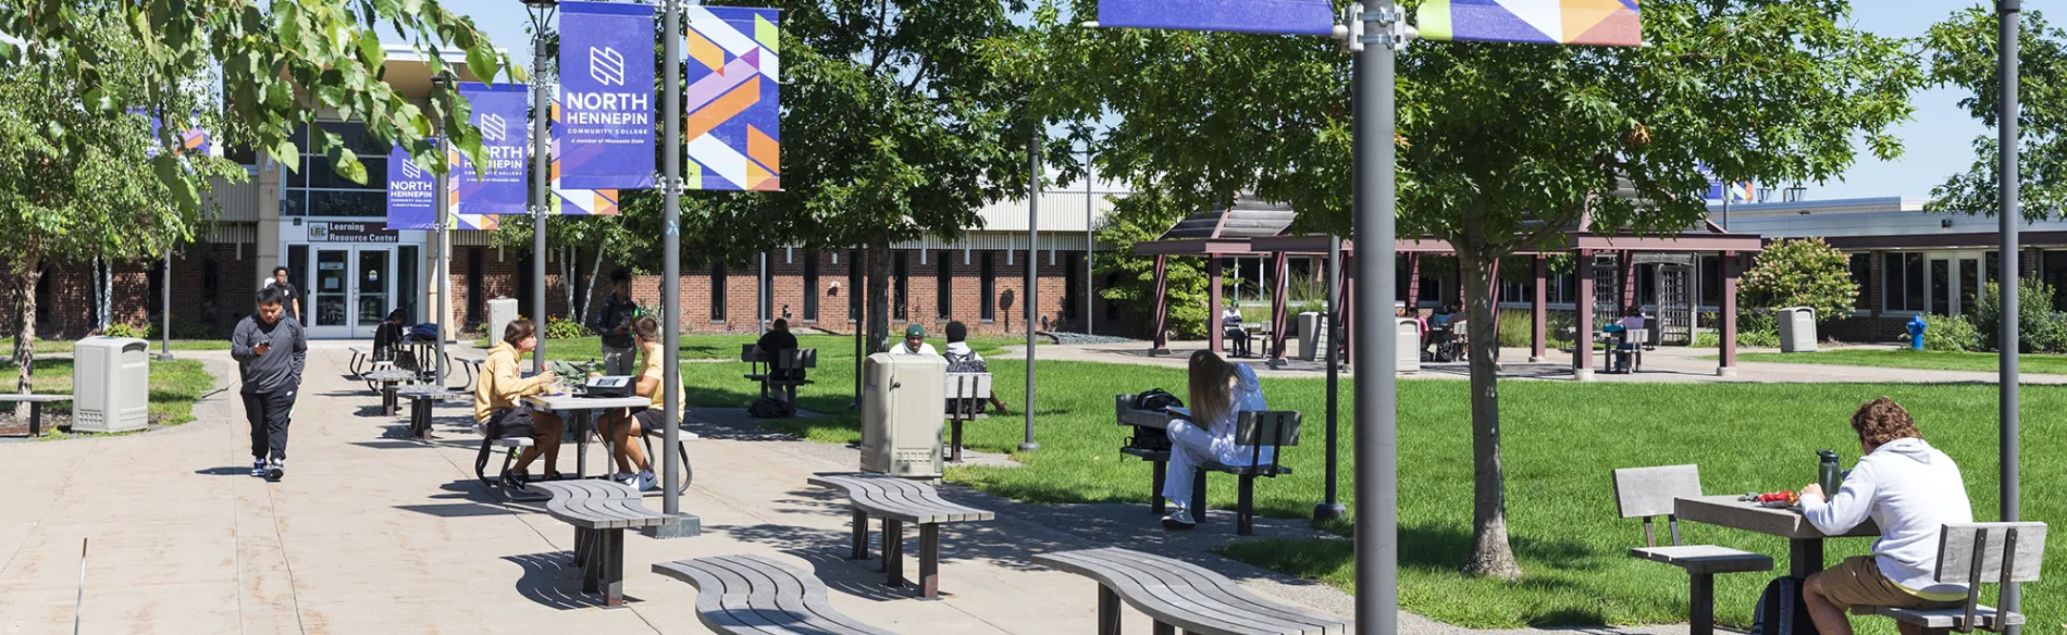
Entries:
[[1817, 321], [1835, 321], [1852, 314], [1858, 283], [1852, 281], [1852, 256], [1823, 238], [1802, 238], [1765, 246], [1736, 294], [1749, 308], [1809, 306]]

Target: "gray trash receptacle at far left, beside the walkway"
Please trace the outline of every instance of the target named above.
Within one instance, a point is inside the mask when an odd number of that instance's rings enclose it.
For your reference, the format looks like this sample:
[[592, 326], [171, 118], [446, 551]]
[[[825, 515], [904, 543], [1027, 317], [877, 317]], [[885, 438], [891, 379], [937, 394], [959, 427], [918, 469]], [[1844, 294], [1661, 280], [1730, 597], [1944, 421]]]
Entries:
[[72, 343], [72, 430], [122, 432], [151, 424], [151, 343], [87, 337]]

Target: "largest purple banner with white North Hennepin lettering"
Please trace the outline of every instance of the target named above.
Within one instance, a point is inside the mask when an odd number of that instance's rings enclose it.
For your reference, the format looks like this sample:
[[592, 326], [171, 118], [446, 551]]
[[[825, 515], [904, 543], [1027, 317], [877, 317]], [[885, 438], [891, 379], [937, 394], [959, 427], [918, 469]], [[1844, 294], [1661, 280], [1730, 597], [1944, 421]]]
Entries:
[[653, 4], [560, 2], [560, 184], [653, 188]]

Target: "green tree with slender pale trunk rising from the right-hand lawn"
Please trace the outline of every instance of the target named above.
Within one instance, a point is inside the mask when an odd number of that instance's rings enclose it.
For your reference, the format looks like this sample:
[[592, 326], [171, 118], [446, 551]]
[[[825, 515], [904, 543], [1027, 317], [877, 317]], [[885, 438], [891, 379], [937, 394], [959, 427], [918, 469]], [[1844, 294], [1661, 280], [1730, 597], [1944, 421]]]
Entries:
[[[1410, 2], [1412, 4], [1412, 2]], [[1075, 14], [1096, 2], [1075, 0]], [[1412, 6], [1410, 6], [1412, 8]], [[1492, 323], [1492, 263], [1587, 221], [1676, 232], [1705, 215], [1695, 161], [1734, 180], [1825, 180], [1900, 143], [1922, 83], [1902, 39], [1850, 29], [1844, 0], [1658, 0], [1645, 48], [1414, 43], [1399, 54], [1399, 232], [1455, 246], [1470, 321]], [[1176, 192], [1253, 188], [1300, 228], [1350, 230], [1350, 56], [1335, 41], [1093, 31], [1040, 21], [1081, 112], [1118, 118], [1108, 174]], [[1629, 190], [1631, 196], [1606, 196]], [[1643, 205], [1639, 205], [1643, 201]], [[1507, 540], [1497, 333], [1472, 329], [1474, 548], [1519, 577]]]

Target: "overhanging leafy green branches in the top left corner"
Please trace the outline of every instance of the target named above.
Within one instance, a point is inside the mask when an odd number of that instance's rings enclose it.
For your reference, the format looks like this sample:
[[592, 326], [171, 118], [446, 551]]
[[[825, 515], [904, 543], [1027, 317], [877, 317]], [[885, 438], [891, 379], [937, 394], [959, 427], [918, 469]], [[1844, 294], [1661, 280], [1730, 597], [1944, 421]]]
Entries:
[[[432, 52], [432, 72], [446, 70], [434, 52], [457, 50], [465, 52], [465, 66], [480, 81], [496, 81], [504, 70], [519, 79], [471, 19], [453, 14], [436, 0], [0, 2], [0, 35], [8, 35], [0, 37], [0, 64], [31, 72], [41, 83], [76, 87], [60, 97], [97, 116], [155, 103], [147, 95], [167, 89], [124, 79], [176, 79], [213, 66], [223, 95], [219, 108], [209, 103], [205, 110], [223, 114], [207, 118], [217, 143], [294, 157], [300, 149], [291, 134], [306, 124], [310, 145], [320, 147], [337, 174], [353, 182], [366, 182], [366, 165], [341, 137], [322, 130], [322, 112], [366, 122], [368, 134], [407, 147], [442, 174], [446, 157], [432, 151], [428, 139], [432, 118], [438, 118], [453, 145], [475, 165], [486, 165], [482, 132], [467, 124], [465, 99], [432, 99], [426, 114], [409, 95], [380, 81], [387, 54], [374, 25], [389, 25], [418, 50]], [[128, 46], [99, 46], [110, 37]], [[48, 145], [68, 155], [87, 153], [91, 143], [62, 128], [45, 126], [41, 132]], [[151, 165], [182, 209], [200, 207], [205, 178], [178, 170], [169, 155]], [[287, 161], [287, 170], [298, 165]]]

